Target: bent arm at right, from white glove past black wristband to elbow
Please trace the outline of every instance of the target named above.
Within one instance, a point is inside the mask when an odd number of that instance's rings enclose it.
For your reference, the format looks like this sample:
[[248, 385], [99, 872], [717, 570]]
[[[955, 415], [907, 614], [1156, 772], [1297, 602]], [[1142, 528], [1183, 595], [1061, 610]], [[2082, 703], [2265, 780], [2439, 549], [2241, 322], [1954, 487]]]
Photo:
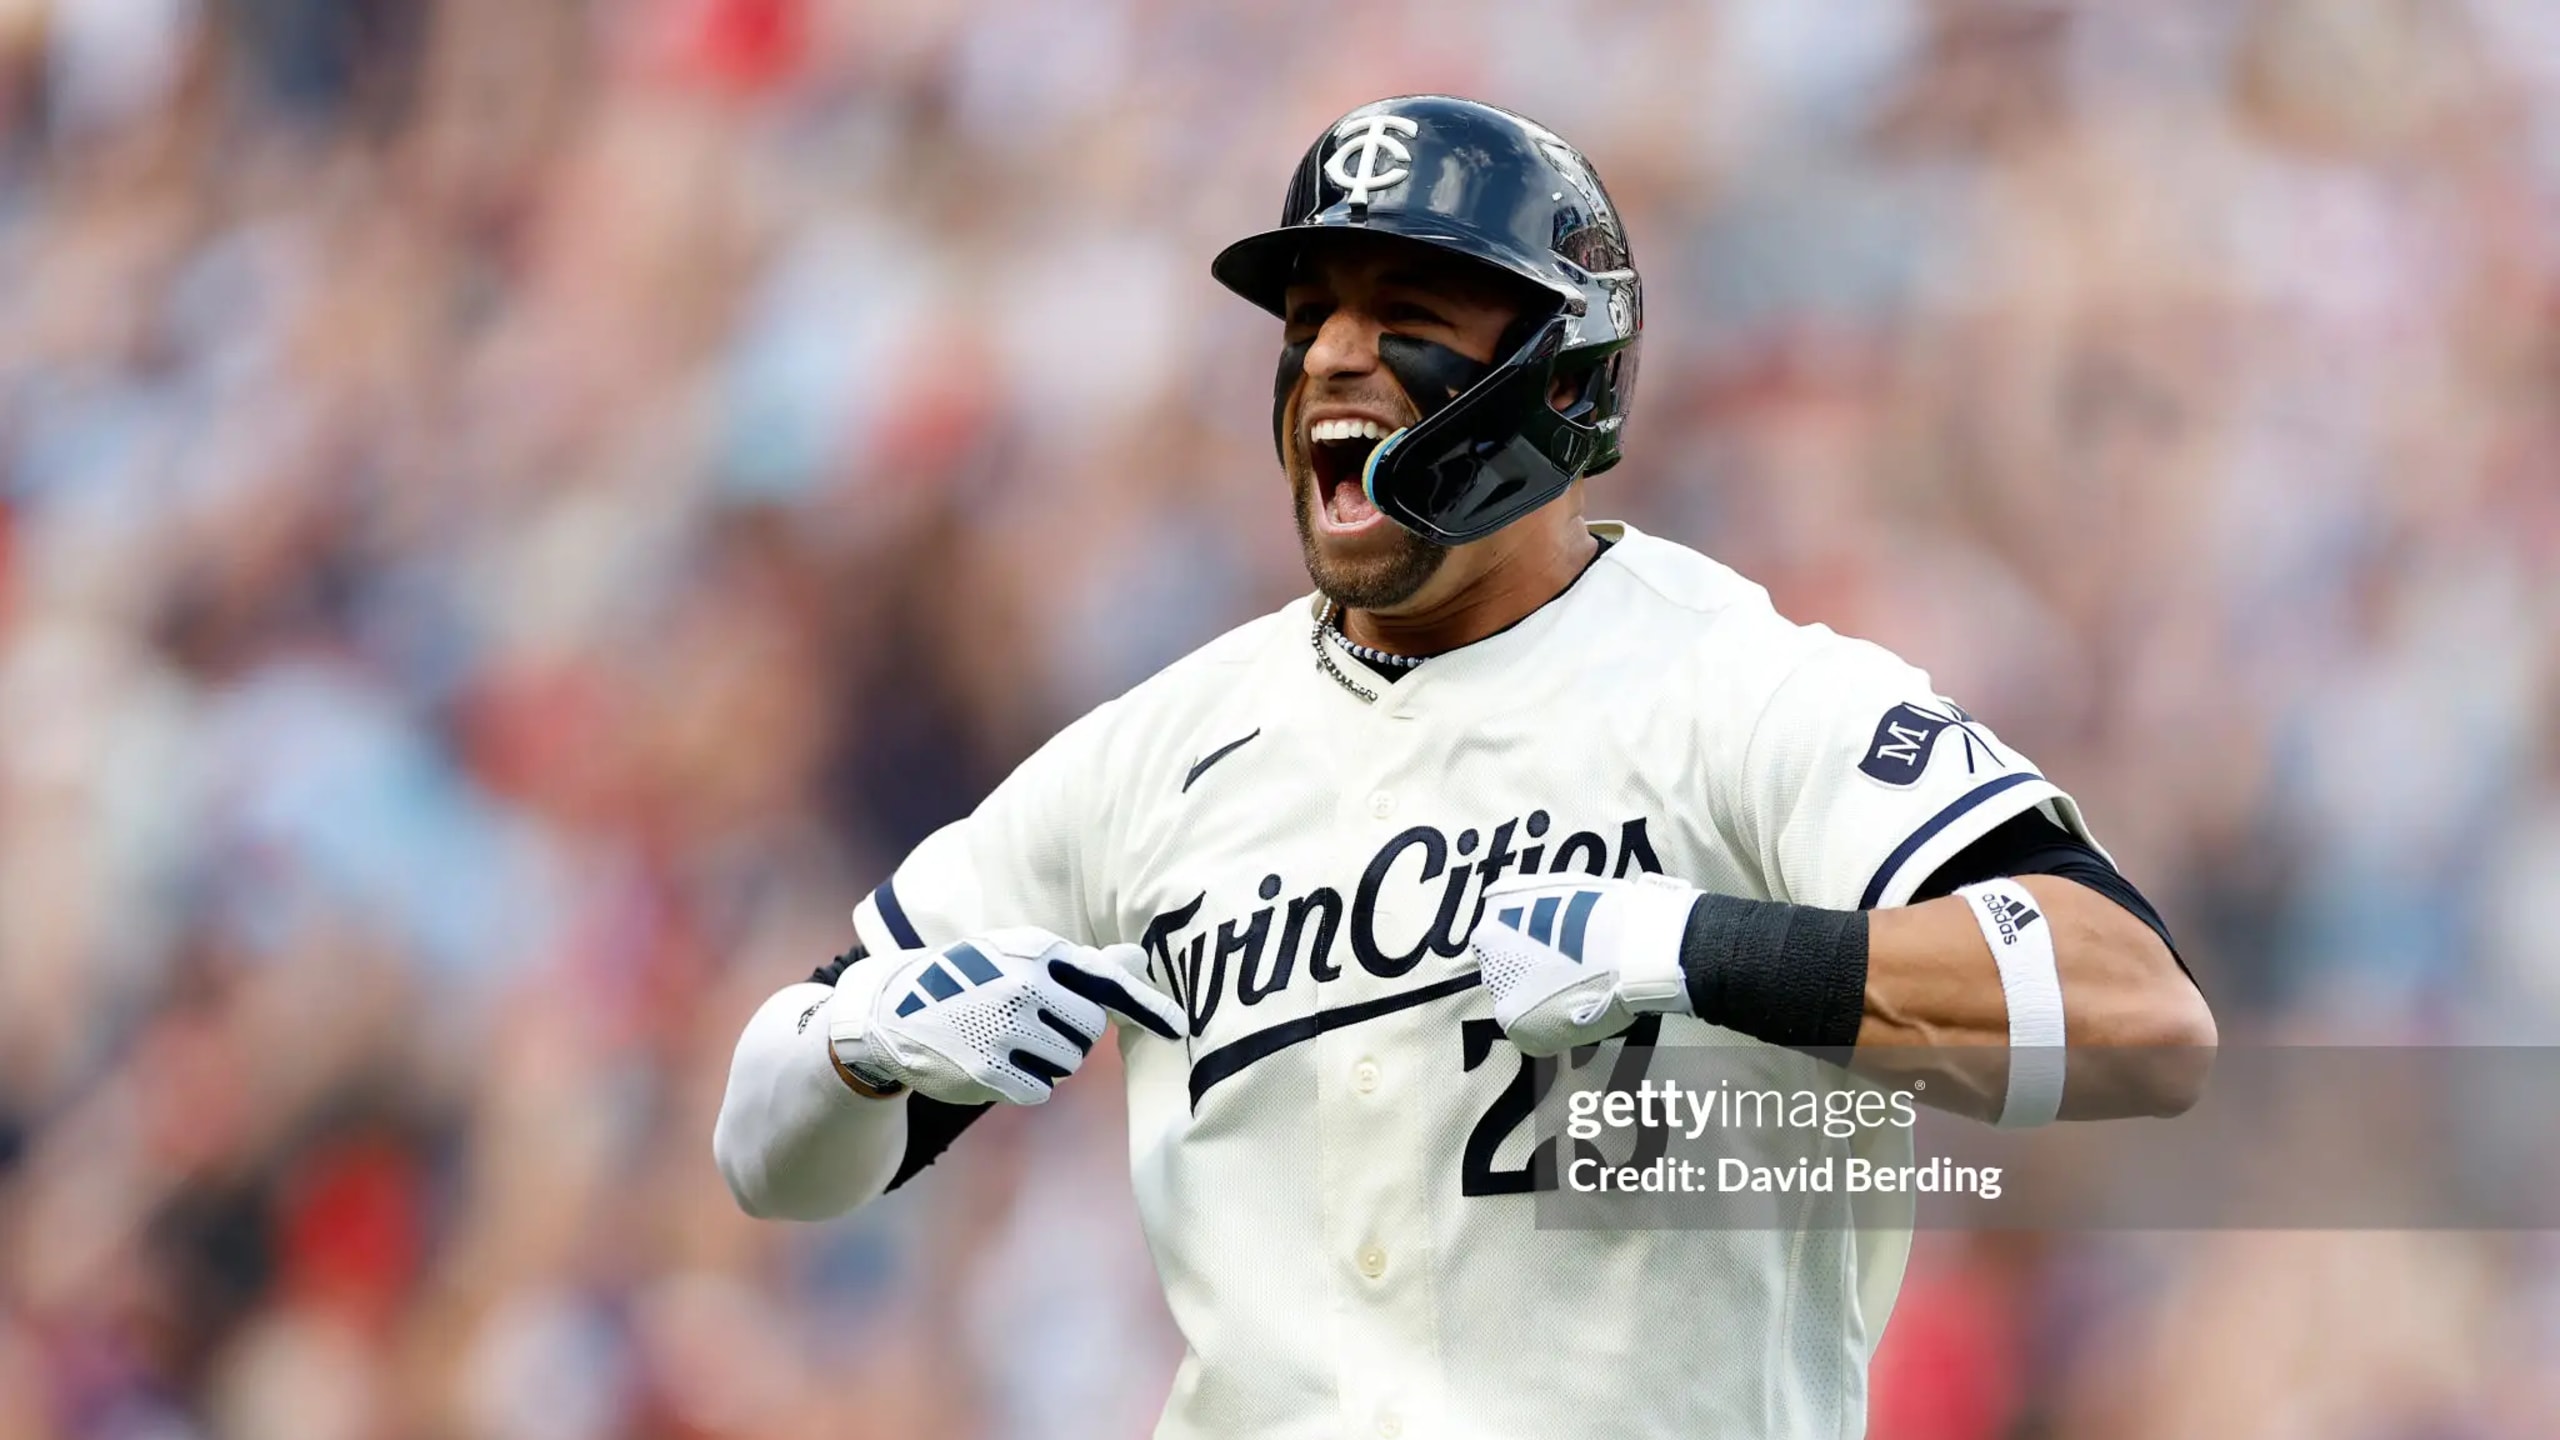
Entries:
[[2056, 874], [1889, 910], [1531, 876], [1487, 889], [1475, 951], [1495, 1022], [1531, 1056], [1695, 1015], [1874, 1079], [1928, 1076], [1928, 1104], [2002, 1125], [2179, 1115], [2212, 1066], [2212, 1012], [2161, 933]]

